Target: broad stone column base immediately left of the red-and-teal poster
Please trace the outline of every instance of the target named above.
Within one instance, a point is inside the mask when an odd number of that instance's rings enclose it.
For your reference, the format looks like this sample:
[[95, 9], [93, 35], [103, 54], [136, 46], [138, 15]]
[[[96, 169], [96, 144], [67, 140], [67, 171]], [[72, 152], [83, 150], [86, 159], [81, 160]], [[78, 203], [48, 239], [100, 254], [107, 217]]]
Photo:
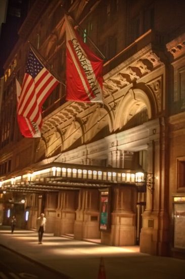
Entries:
[[99, 192], [96, 189], [81, 189], [74, 223], [74, 238], [100, 238]]

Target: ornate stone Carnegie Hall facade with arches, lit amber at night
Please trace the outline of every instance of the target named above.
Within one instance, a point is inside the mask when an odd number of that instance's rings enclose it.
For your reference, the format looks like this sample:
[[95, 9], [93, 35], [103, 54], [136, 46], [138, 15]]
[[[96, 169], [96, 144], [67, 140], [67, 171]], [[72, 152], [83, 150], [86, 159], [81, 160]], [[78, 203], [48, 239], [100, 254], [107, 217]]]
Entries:
[[[32, 1], [1, 78], [0, 223], [16, 215], [36, 229], [44, 212], [54, 235], [185, 255], [184, 9], [184, 1]], [[66, 12], [105, 56], [103, 103], [65, 100]], [[43, 104], [40, 138], [23, 137], [16, 117], [30, 44], [60, 80]]]

